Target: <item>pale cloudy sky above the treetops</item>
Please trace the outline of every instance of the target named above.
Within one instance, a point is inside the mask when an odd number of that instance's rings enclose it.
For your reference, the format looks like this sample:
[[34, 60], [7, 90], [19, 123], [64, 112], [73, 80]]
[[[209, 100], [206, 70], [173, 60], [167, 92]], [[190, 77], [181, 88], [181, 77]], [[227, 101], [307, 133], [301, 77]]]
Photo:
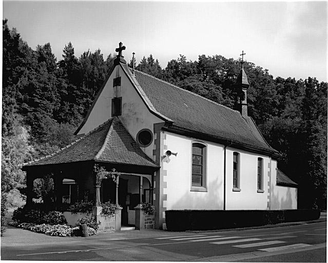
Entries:
[[268, 69], [274, 78], [327, 81], [327, 2], [3, 1], [3, 18], [28, 45], [50, 42], [57, 61], [119, 42], [126, 61], [152, 54], [162, 68], [185, 55], [223, 55]]

